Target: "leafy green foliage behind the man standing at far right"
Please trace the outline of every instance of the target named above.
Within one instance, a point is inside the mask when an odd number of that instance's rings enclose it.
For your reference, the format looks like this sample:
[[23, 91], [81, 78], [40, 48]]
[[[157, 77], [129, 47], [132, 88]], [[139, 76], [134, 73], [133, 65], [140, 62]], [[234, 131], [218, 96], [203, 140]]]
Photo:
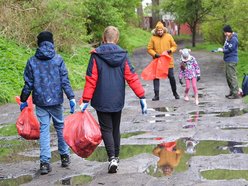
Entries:
[[220, 0], [218, 6], [213, 8], [213, 13], [209, 14], [202, 24], [204, 39], [223, 45], [225, 38], [222, 28], [224, 25], [229, 24], [232, 26], [233, 31], [238, 33], [239, 48], [247, 50], [248, 27], [241, 26], [246, 25], [248, 21], [247, 9], [248, 1]]

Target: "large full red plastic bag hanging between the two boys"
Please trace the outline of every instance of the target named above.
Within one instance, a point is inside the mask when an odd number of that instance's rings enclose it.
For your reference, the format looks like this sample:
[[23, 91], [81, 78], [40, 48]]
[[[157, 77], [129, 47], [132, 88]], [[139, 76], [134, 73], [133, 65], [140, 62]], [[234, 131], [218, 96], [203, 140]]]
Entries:
[[82, 158], [89, 157], [102, 141], [100, 126], [87, 110], [65, 118], [63, 136], [73, 152]]

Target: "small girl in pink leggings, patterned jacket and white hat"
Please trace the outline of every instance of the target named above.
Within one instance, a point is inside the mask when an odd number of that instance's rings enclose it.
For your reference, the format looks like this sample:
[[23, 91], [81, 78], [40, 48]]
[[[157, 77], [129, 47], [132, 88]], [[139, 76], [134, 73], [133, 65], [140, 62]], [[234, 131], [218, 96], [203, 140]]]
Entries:
[[199, 104], [198, 99], [198, 89], [196, 82], [200, 80], [200, 67], [192, 55], [190, 55], [190, 49], [184, 48], [182, 50], [179, 50], [181, 53], [180, 58], [180, 70], [179, 70], [179, 82], [182, 85], [183, 81], [182, 79], [185, 79], [186, 88], [184, 91], [184, 100], [189, 101], [189, 90], [190, 90], [190, 82], [192, 83], [192, 87], [194, 90], [194, 96], [195, 96], [195, 104]]

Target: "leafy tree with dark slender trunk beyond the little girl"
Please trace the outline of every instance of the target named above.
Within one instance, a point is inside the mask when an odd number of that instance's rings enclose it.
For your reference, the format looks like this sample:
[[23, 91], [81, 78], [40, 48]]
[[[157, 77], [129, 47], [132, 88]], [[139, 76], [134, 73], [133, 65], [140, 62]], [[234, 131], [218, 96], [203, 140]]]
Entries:
[[178, 23], [188, 24], [192, 32], [192, 46], [195, 47], [197, 27], [218, 3], [219, 0], [163, 0], [162, 7], [165, 12], [175, 14]]

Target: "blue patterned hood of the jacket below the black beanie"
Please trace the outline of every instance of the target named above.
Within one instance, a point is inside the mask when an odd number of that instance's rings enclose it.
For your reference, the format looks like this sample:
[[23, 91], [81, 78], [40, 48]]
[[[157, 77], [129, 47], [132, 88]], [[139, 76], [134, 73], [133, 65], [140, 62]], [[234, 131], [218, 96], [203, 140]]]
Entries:
[[54, 44], [49, 41], [44, 41], [37, 48], [35, 57], [41, 60], [49, 60], [55, 56]]

